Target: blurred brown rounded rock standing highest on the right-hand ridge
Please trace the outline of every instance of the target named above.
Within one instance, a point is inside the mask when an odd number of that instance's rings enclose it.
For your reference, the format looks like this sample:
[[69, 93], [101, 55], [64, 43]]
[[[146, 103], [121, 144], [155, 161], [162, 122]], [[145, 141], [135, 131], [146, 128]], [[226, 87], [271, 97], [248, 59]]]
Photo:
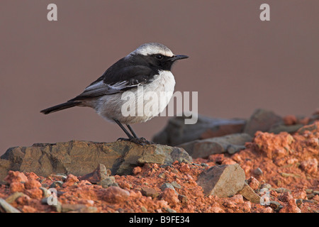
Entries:
[[243, 132], [254, 136], [257, 131], [268, 132], [272, 126], [280, 123], [283, 123], [282, 118], [274, 114], [274, 112], [257, 109], [247, 120]]

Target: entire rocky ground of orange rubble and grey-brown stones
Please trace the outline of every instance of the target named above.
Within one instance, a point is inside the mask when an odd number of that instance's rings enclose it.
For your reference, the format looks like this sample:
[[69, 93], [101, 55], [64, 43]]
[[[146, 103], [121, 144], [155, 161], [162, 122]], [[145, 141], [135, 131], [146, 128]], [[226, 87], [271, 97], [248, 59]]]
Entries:
[[[125, 141], [10, 148], [0, 160], [0, 211], [318, 213], [318, 115], [201, 118], [200, 127], [189, 126], [193, 134], [174, 118], [155, 141], [179, 148]], [[184, 133], [173, 133], [172, 121]]]

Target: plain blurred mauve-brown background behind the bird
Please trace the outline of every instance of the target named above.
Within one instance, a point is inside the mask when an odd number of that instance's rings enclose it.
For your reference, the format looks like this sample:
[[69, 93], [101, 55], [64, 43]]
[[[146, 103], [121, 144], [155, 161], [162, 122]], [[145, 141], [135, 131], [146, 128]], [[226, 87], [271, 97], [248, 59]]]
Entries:
[[[57, 4], [57, 21], [47, 5]], [[259, 20], [270, 5], [271, 21]], [[142, 43], [189, 55], [177, 91], [199, 114], [247, 118], [259, 107], [309, 116], [318, 105], [319, 1], [0, 1], [0, 154], [33, 143], [125, 134], [89, 108], [45, 116]], [[168, 118], [135, 125], [152, 138]]]

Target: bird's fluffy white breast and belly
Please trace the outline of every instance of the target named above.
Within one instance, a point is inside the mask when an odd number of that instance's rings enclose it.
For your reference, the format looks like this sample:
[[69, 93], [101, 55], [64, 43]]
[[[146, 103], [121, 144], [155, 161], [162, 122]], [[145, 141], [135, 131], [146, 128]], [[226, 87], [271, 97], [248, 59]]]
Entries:
[[[121, 123], [141, 123], [150, 120], [161, 113], [172, 98], [175, 87], [175, 79], [172, 72], [167, 70], [159, 71], [155, 75], [154, 80], [150, 84], [139, 86], [138, 88], [130, 89], [134, 99], [122, 99], [123, 94], [117, 93], [105, 95], [97, 100], [96, 112], [106, 118], [112, 120], [116, 118]], [[157, 99], [150, 96], [157, 96]], [[155, 104], [154, 102], [157, 102]], [[123, 116], [122, 106], [135, 106], [134, 116]], [[156, 108], [147, 108], [156, 106]], [[140, 114], [142, 113], [142, 114]]]

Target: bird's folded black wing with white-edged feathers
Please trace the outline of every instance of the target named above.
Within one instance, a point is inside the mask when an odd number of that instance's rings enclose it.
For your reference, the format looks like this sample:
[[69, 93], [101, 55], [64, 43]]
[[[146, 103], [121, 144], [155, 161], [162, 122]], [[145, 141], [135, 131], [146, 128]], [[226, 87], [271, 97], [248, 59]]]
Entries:
[[144, 65], [130, 65], [121, 68], [110, 67], [99, 79], [86, 87], [82, 94], [69, 101], [125, 92], [138, 85], [152, 82], [156, 73], [155, 70]]

